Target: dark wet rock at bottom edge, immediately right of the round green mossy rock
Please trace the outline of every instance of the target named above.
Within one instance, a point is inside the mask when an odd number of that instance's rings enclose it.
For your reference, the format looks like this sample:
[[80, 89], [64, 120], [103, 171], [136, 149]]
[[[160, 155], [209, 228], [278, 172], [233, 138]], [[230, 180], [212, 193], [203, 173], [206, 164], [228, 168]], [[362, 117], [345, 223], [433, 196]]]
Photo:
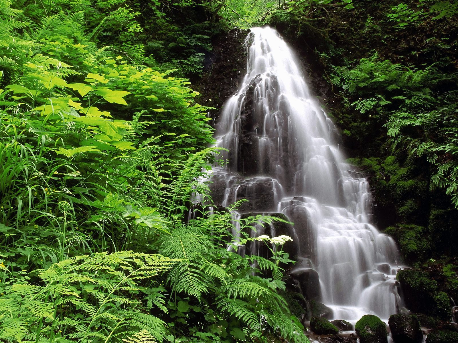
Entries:
[[391, 335], [396, 343], [421, 343], [423, 333], [415, 315], [395, 314], [388, 319]]

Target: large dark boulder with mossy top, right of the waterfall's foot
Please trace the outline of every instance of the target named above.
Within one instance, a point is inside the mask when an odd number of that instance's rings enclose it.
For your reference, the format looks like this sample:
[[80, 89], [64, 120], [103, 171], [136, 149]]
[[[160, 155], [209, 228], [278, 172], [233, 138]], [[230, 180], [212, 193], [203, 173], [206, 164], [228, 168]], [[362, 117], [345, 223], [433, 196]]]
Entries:
[[437, 282], [430, 279], [428, 273], [403, 269], [398, 272], [397, 279], [409, 310], [450, 319], [451, 305], [448, 295], [439, 290]]

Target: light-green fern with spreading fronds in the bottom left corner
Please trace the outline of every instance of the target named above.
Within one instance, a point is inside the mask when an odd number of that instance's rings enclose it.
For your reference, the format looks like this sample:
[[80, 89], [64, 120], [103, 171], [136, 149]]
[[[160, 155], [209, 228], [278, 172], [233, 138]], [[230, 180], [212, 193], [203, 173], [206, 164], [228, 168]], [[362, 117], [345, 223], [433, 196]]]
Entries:
[[[154, 279], [178, 262], [159, 255], [116, 252], [56, 263], [40, 273], [44, 286], [14, 284], [0, 298], [0, 309], [10, 309], [0, 312], [0, 338], [21, 341], [33, 332], [46, 336], [65, 325], [69, 339], [118, 342], [127, 334], [147, 330], [160, 340], [164, 322], [142, 313], [141, 302], [129, 294], [141, 293], [145, 288], [139, 281]], [[46, 318], [51, 326], [45, 330]]]

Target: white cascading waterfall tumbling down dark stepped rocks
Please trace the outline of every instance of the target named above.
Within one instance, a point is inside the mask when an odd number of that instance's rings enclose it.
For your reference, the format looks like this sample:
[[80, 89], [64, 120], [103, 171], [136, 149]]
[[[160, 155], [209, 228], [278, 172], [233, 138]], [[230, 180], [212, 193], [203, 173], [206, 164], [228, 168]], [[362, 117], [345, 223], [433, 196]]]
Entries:
[[247, 198], [239, 216], [286, 215], [300, 261], [290, 273], [305, 280], [304, 294], [332, 308], [333, 318], [386, 320], [399, 305], [399, 256], [393, 239], [370, 224], [367, 181], [344, 162], [334, 124], [278, 33], [253, 28], [245, 43], [247, 73], [217, 124], [229, 163], [213, 170], [214, 200]]

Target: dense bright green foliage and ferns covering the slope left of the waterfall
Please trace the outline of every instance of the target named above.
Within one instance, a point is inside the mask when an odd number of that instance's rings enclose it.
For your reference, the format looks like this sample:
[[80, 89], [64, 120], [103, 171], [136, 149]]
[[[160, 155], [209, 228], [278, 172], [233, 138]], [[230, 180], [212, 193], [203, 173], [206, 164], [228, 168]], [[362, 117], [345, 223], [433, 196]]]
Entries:
[[209, 108], [172, 76], [199, 74], [224, 25], [188, 16], [210, 3], [140, 6], [0, 1], [0, 340], [306, 343], [286, 240], [261, 239], [272, 260], [237, 254], [243, 233], [228, 249]]

